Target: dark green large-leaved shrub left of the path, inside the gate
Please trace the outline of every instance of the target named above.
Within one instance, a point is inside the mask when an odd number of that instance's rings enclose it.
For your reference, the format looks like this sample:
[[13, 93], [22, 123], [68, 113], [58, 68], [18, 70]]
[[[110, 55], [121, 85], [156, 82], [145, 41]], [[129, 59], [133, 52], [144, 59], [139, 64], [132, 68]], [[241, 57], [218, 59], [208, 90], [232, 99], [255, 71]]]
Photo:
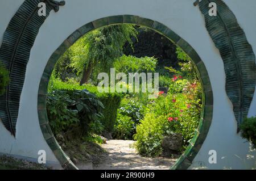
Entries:
[[99, 134], [103, 104], [87, 90], [55, 90], [47, 95], [47, 114], [53, 133], [75, 130], [79, 136]]

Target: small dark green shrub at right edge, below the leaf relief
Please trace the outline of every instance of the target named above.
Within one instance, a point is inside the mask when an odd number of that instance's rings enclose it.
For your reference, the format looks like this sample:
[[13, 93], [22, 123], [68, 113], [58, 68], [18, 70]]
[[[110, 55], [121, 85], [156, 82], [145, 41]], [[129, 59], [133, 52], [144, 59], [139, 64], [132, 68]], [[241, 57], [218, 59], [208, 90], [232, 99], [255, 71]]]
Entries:
[[242, 137], [249, 140], [256, 149], [256, 117], [246, 118], [240, 125]]

